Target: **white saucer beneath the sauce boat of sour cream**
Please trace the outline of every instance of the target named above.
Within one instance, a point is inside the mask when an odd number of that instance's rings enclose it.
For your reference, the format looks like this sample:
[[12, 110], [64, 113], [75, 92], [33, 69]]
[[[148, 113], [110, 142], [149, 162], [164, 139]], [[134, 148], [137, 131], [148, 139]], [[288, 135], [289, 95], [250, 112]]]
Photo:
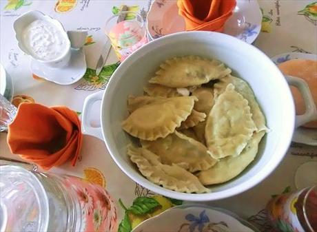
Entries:
[[83, 49], [71, 49], [70, 63], [61, 68], [53, 68], [34, 59], [31, 61], [33, 74], [59, 85], [71, 85], [79, 81], [85, 74], [86, 68], [87, 64]]

